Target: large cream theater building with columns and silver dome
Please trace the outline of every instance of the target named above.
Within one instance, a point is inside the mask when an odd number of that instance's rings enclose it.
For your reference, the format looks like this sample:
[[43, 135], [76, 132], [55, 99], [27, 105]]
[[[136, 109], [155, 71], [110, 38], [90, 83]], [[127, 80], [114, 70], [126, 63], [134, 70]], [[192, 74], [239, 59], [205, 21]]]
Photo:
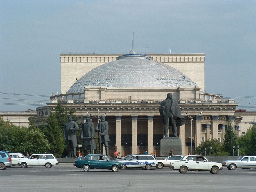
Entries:
[[105, 114], [110, 146], [116, 143], [121, 155], [145, 150], [159, 155], [164, 135], [159, 106], [170, 92], [186, 118], [177, 131], [182, 155], [210, 138], [223, 142], [228, 121], [239, 135], [243, 117], [234, 113], [239, 103], [205, 91], [205, 54], [70, 53], [60, 54], [60, 65], [61, 92], [36, 108], [38, 116], [30, 118], [36, 125], [46, 123], [60, 100], [63, 108], [75, 110], [77, 123], [89, 113], [96, 126], [96, 117]]

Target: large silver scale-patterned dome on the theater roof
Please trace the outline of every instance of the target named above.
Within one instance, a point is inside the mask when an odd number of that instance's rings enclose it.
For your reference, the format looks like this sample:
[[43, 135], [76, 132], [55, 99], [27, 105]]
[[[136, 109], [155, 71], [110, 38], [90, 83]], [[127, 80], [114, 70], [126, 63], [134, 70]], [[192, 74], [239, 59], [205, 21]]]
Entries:
[[74, 83], [68, 93], [84, 87], [179, 87], [197, 86], [179, 70], [141, 54], [127, 54], [92, 69]]

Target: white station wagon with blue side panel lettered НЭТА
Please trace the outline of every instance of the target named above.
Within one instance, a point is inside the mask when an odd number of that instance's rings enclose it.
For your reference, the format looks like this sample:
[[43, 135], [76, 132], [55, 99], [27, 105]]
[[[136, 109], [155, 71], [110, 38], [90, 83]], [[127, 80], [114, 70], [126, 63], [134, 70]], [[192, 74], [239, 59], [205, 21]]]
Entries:
[[127, 155], [123, 159], [116, 159], [117, 161], [122, 163], [122, 169], [126, 168], [146, 168], [151, 169], [151, 167], [157, 167], [157, 161], [152, 155], [148, 154], [134, 154]]

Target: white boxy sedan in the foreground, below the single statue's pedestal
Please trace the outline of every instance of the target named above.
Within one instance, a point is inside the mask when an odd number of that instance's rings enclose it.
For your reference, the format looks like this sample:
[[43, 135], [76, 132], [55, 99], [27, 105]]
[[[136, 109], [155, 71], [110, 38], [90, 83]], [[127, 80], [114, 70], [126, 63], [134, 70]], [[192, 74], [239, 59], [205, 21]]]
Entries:
[[210, 171], [217, 174], [222, 168], [221, 163], [210, 162], [201, 155], [186, 155], [177, 162], [171, 162], [171, 169], [179, 170], [180, 173], [189, 171]]

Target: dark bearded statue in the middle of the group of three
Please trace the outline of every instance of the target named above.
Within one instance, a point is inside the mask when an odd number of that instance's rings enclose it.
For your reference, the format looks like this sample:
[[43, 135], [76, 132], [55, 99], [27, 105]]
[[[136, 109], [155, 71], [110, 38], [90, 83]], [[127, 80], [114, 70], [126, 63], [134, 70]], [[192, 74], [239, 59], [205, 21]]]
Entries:
[[90, 116], [87, 115], [85, 117], [86, 122], [82, 125], [82, 129], [80, 132], [80, 139], [83, 140], [84, 143], [84, 154], [83, 157], [87, 155], [87, 150], [90, 150], [90, 154], [93, 154], [93, 149], [96, 149], [96, 143], [94, 138], [94, 124], [92, 123]]

